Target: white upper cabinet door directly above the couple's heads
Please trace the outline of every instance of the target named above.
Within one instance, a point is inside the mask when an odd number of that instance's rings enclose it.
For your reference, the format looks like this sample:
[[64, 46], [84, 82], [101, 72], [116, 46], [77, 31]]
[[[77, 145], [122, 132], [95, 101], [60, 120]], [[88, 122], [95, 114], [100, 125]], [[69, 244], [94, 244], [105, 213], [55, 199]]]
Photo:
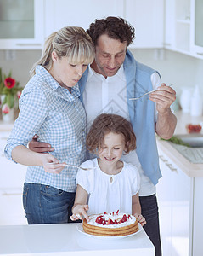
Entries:
[[123, 17], [122, 0], [46, 0], [45, 36], [64, 26], [82, 26], [86, 30], [95, 19], [110, 15]]

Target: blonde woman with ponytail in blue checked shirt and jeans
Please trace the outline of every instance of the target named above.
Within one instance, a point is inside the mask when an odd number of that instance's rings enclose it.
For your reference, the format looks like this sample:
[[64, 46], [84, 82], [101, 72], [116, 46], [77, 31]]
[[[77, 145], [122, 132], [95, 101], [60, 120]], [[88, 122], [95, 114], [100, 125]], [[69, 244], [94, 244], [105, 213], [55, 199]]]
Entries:
[[[81, 27], [52, 33], [20, 96], [20, 114], [5, 154], [28, 166], [23, 193], [28, 224], [68, 222], [77, 170], [65, 163], [79, 166], [86, 160], [86, 114], [77, 82], [93, 58], [92, 40]], [[54, 152], [28, 149], [35, 134]]]

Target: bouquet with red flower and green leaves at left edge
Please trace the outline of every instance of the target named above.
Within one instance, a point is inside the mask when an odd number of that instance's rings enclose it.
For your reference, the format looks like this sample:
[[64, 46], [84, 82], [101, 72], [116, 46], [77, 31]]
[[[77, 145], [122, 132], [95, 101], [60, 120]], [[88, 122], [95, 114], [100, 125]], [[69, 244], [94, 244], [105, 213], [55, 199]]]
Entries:
[[12, 78], [11, 72], [6, 76], [0, 68], [0, 95], [2, 96], [3, 113], [9, 113], [10, 109], [16, 106], [14, 103], [18, 102], [22, 90], [19, 82]]

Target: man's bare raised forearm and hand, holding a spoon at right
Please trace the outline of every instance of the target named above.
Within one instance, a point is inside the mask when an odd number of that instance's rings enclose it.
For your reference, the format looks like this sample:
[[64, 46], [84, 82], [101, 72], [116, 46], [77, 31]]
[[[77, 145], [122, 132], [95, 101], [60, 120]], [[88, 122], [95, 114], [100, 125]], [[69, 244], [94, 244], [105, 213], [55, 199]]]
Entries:
[[156, 103], [158, 112], [155, 131], [158, 136], [169, 139], [172, 137], [177, 124], [177, 118], [170, 108], [176, 100], [176, 92], [166, 84], [161, 84], [157, 91], [149, 95], [149, 99]]

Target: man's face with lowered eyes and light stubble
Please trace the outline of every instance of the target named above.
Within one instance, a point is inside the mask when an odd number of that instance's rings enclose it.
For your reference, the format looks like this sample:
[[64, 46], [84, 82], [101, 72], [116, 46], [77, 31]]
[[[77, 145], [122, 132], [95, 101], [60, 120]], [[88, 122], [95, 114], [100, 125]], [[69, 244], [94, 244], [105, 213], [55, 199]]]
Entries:
[[106, 34], [98, 38], [95, 60], [91, 67], [105, 78], [115, 75], [126, 57], [127, 43], [109, 38]]

